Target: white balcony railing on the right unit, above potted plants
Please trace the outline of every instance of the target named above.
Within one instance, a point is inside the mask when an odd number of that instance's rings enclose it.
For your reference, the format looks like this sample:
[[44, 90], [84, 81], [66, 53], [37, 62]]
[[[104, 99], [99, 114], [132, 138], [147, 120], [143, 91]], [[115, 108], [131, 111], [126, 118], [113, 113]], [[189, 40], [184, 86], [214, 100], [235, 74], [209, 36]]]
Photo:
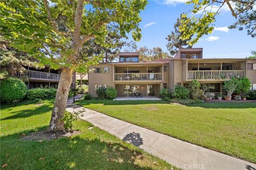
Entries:
[[218, 81], [230, 80], [232, 77], [244, 77], [244, 70], [189, 70], [187, 80]]

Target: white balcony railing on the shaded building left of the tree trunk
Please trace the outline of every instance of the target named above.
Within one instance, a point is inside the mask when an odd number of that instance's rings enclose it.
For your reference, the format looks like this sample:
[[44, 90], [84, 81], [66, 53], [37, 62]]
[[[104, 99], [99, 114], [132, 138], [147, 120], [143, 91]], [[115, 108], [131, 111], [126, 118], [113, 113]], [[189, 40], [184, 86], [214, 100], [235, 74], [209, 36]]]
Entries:
[[50, 72], [29, 70], [24, 75], [29, 77], [29, 79], [31, 80], [52, 80], [52, 81], [60, 80], [60, 74], [53, 74]]

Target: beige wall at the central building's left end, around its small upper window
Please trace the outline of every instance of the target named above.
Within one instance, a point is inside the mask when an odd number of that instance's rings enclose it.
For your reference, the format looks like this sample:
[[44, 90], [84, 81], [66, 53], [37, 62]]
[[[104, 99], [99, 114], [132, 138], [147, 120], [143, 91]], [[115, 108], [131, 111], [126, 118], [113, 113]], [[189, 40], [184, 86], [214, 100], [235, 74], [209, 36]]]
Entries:
[[[99, 67], [108, 67], [109, 72], [107, 73], [94, 73], [94, 68]], [[97, 97], [97, 94], [94, 91], [94, 85], [109, 85], [110, 87], [115, 87], [115, 84], [113, 82], [113, 65], [112, 64], [100, 64], [98, 66], [91, 66], [89, 67], [91, 70], [89, 72], [89, 93], [95, 98]]]

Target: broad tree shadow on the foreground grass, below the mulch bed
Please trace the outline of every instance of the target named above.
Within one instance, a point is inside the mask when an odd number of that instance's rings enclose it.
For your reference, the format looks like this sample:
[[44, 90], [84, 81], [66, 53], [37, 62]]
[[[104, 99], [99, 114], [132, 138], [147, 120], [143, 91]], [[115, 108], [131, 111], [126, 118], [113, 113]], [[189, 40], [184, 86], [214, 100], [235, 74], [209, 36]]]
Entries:
[[1, 165], [8, 164], [6, 169], [152, 169], [144, 153], [98, 136], [84, 133], [41, 143], [17, 140], [17, 135], [1, 137]]

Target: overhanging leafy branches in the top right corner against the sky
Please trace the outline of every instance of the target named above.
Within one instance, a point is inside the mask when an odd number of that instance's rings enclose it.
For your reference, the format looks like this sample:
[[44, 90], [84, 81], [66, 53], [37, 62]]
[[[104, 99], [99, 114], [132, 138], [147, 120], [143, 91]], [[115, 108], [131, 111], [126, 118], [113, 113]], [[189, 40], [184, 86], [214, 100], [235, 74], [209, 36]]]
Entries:
[[194, 45], [203, 35], [211, 34], [215, 18], [224, 9], [229, 9], [236, 19], [230, 29], [247, 29], [247, 34], [255, 37], [256, 11], [253, 8], [255, 2], [256, 0], [190, 0], [187, 4], [193, 4], [193, 10], [181, 14], [179, 31], [183, 34], [180, 38], [184, 41], [188, 40], [189, 45]]

